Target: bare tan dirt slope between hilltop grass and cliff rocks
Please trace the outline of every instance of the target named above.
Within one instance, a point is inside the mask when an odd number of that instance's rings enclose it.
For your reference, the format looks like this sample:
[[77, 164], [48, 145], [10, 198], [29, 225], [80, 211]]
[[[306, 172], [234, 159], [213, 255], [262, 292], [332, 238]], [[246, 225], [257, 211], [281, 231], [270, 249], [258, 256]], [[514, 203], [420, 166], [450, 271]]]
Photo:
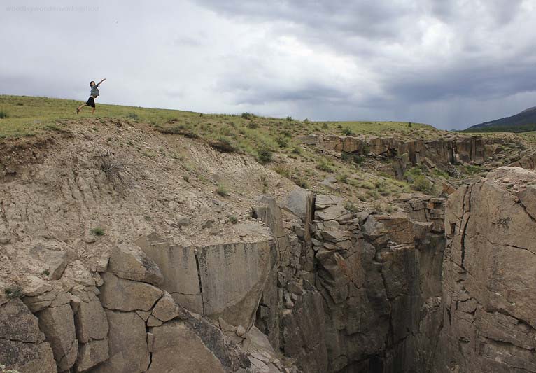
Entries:
[[255, 197], [293, 188], [251, 157], [101, 121], [1, 145], [3, 281], [50, 272], [36, 246], [90, 268], [116, 241], [150, 232], [181, 246], [247, 241], [255, 232], [239, 234], [240, 223]]

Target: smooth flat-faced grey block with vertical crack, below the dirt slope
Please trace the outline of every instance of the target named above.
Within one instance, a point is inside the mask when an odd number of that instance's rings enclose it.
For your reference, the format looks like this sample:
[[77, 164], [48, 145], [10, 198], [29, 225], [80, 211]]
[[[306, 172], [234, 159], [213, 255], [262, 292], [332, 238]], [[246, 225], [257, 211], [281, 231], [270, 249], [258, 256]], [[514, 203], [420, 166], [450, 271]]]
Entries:
[[181, 248], [155, 234], [136, 243], [164, 275], [162, 288], [183, 307], [251, 326], [273, 267], [276, 241], [266, 227], [243, 224], [262, 239]]

